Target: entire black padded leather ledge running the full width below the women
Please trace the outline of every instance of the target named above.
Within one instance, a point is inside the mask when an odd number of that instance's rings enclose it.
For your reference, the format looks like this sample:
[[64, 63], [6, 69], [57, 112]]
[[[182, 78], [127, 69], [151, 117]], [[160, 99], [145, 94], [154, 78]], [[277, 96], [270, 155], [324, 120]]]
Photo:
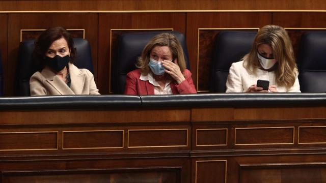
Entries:
[[[0, 97], [0, 110], [47, 109], [190, 109], [207, 107], [324, 106], [324, 93], [227, 93], [191, 95], [72, 95]], [[224, 115], [224, 114], [216, 114]]]

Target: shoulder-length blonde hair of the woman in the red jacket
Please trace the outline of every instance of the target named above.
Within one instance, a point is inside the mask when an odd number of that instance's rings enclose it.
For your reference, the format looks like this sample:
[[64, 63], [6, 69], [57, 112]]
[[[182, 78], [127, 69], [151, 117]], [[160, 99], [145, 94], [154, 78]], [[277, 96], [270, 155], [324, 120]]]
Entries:
[[148, 66], [149, 55], [155, 46], [168, 46], [172, 52], [172, 58], [173, 59], [177, 58], [178, 65], [180, 67], [181, 72], [185, 70], [186, 64], [185, 64], [183, 49], [176, 36], [171, 33], [160, 33], [154, 36], [146, 44], [146, 46], [142, 51], [141, 56], [138, 58], [136, 67], [140, 68], [143, 74], [147, 75], [150, 72], [150, 68]]

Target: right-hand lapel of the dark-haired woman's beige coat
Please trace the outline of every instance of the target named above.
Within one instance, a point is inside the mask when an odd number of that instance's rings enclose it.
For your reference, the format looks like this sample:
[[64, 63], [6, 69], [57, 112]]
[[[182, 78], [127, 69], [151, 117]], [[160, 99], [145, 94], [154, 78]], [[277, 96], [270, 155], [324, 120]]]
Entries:
[[69, 74], [70, 74], [70, 88], [75, 95], [82, 95], [85, 86], [85, 74], [80, 72], [80, 70], [69, 63]]

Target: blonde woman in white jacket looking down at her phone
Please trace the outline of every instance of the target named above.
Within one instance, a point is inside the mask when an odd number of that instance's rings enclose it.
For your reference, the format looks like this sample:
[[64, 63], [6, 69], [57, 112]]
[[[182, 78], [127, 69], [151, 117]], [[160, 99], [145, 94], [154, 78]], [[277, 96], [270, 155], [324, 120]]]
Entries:
[[[297, 75], [287, 32], [281, 26], [266, 25], [256, 35], [251, 51], [232, 64], [226, 92], [300, 92]], [[268, 80], [268, 89], [257, 86], [257, 80]]]

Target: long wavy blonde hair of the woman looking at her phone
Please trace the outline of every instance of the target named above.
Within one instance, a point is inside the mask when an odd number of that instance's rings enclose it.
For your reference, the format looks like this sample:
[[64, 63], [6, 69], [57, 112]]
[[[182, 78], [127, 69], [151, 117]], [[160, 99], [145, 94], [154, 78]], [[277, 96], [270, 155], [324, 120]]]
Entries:
[[261, 67], [257, 57], [261, 44], [267, 44], [273, 49], [274, 58], [277, 60], [276, 83], [287, 88], [293, 86], [298, 71], [290, 38], [281, 26], [266, 25], [259, 30], [251, 51], [242, 58], [243, 67], [254, 74]]

